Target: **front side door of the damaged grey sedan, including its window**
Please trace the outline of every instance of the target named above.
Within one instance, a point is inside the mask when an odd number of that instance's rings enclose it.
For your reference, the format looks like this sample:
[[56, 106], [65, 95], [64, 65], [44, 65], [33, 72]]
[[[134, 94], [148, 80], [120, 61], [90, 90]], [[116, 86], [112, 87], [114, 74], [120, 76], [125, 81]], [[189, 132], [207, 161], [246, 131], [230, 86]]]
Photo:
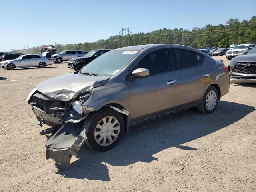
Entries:
[[169, 48], [153, 50], [135, 67], [146, 68], [150, 76], [129, 80], [132, 122], [176, 110], [180, 106], [180, 81]]

